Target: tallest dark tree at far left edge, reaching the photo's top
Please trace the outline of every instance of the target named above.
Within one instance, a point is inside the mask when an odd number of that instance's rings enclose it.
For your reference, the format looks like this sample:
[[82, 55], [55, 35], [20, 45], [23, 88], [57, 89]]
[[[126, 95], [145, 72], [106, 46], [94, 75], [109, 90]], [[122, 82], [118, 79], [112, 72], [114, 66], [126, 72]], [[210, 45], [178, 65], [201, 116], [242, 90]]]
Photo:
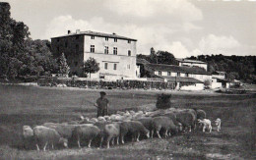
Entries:
[[9, 3], [0, 2], [0, 76], [15, 78], [19, 76], [20, 58], [30, 32], [24, 23], [11, 19], [10, 9]]

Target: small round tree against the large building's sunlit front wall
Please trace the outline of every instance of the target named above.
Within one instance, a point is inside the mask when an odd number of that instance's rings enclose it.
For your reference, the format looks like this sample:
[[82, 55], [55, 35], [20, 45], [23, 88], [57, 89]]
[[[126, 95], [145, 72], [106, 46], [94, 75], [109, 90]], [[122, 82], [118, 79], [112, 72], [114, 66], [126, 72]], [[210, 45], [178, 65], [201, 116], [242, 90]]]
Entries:
[[91, 78], [91, 74], [94, 74], [96, 72], [99, 71], [99, 65], [96, 62], [96, 59], [90, 57], [86, 62], [84, 62], [83, 64], [83, 72], [86, 75], [90, 75]]

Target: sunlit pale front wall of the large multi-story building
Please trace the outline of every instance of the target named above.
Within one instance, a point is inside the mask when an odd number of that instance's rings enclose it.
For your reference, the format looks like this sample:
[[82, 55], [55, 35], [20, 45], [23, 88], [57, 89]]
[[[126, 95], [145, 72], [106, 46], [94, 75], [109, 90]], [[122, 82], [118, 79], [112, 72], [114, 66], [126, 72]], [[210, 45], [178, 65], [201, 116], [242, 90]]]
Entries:
[[[96, 74], [92, 74], [92, 78], [99, 78], [101, 75], [115, 75], [117, 79], [122, 77], [136, 78], [139, 75], [136, 66], [136, 41], [128, 43], [126, 39], [117, 39], [114, 42], [114, 38], [95, 36], [92, 39], [91, 36], [85, 35], [84, 40], [84, 61], [90, 57], [95, 58], [99, 63], [99, 71]], [[95, 53], [91, 53], [91, 45], [95, 45]], [[108, 46], [108, 54], [104, 54], [105, 46]], [[113, 54], [113, 47], [117, 48], [117, 55]], [[128, 50], [131, 51], [131, 56], [128, 56]], [[104, 68], [107, 63], [107, 69]], [[116, 70], [113, 70], [114, 64], [116, 64]]]

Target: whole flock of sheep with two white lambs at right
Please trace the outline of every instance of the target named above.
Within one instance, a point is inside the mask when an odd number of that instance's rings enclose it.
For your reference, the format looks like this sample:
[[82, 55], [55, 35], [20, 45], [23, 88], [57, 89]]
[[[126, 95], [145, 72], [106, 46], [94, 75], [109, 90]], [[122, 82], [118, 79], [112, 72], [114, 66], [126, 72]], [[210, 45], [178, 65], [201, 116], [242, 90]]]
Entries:
[[[217, 131], [221, 130], [221, 119], [215, 121]], [[111, 116], [98, 118], [84, 118], [81, 116], [79, 121], [67, 123], [44, 123], [41, 126], [23, 127], [23, 136], [25, 141], [33, 140], [37, 150], [49, 146], [52, 149], [56, 145], [68, 147], [72, 139], [79, 148], [81, 142], [88, 141], [88, 147], [94, 139], [98, 139], [99, 147], [106, 141], [106, 147], [109, 143], [124, 143], [125, 139], [132, 137], [132, 141], [139, 141], [140, 136], [161, 138], [176, 133], [191, 132], [196, 128], [203, 128], [203, 132], [208, 130], [212, 132], [212, 125], [209, 119], [206, 119], [204, 110], [196, 109], [175, 109], [157, 110], [152, 112], [117, 112]], [[98, 145], [97, 143], [97, 145]]]

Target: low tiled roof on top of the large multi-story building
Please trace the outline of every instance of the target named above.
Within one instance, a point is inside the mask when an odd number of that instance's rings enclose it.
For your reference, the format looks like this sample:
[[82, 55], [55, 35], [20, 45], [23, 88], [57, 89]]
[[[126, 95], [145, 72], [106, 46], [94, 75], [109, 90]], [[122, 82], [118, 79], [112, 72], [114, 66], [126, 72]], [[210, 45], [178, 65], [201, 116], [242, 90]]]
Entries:
[[52, 37], [52, 38], [72, 36], [72, 35], [95, 35], [95, 36], [101, 36], [101, 37], [112, 37], [112, 38], [118, 38], [118, 39], [127, 39], [127, 40], [137, 41], [137, 39], [117, 35], [116, 33], [111, 34], [111, 33], [96, 32], [96, 31], [91, 31], [91, 30], [71, 32], [69, 34], [65, 34], [65, 35], [62, 35], [62, 36], [56, 36], [56, 37]]

